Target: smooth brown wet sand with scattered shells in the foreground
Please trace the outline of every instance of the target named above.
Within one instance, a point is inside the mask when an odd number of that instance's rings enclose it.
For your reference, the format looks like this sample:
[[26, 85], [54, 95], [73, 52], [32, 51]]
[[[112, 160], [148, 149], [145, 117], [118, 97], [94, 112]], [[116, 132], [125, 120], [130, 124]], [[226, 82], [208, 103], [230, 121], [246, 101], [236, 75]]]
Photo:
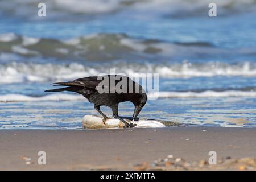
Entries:
[[[255, 169], [247, 164], [241, 167], [236, 159], [250, 157], [252, 163], [256, 129], [0, 130], [0, 145], [1, 170], [179, 170], [200, 169], [200, 165], [202, 169]], [[39, 151], [46, 152], [46, 165], [38, 164]], [[217, 152], [217, 164], [208, 167], [203, 164], [208, 163], [209, 151]], [[226, 160], [236, 160], [236, 167], [230, 168], [232, 161], [224, 166]], [[194, 166], [168, 168], [179, 162]]]

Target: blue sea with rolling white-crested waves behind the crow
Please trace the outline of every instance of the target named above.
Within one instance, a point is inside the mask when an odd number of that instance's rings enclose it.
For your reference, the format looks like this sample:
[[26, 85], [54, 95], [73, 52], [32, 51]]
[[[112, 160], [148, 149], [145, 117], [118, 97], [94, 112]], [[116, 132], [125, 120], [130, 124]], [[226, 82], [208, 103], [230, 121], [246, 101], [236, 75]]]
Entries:
[[160, 97], [141, 117], [256, 126], [255, 3], [217, 2], [211, 18], [203, 0], [127, 2], [46, 1], [47, 16], [38, 17], [36, 1], [1, 1], [0, 128], [81, 128], [93, 106], [44, 90], [112, 68], [159, 73]]

